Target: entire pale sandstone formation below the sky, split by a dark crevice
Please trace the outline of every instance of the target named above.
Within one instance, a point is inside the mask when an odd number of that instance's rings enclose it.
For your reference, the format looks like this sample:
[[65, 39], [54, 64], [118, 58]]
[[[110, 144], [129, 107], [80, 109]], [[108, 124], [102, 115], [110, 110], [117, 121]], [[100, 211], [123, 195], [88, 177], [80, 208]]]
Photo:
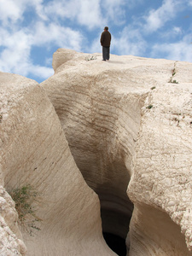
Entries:
[[[119, 255], [192, 255], [192, 64], [58, 49], [53, 67], [0, 73], [1, 255], [116, 255], [102, 232]], [[26, 184], [32, 236], [7, 193]]]

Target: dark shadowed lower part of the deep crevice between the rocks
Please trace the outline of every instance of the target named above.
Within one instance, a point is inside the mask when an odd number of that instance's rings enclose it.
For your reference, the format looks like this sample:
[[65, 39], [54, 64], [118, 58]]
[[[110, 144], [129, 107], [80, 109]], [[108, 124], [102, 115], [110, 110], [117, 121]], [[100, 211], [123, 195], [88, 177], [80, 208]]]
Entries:
[[89, 182], [86, 178], [85, 181], [94, 189], [100, 200], [103, 237], [108, 247], [119, 256], [128, 255], [127, 235], [133, 212], [133, 203], [126, 193], [131, 178], [130, 172], [123, 161], [119, 160], [108, 168], [103, 168], [101, 173], [104, 174], [103, 177], [94, 177], [95, 172], [89, 172]]

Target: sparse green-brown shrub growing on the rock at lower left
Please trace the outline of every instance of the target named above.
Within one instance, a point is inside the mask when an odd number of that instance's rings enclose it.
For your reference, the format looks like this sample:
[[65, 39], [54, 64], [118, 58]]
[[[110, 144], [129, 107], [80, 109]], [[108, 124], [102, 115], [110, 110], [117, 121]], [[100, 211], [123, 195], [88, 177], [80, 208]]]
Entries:
[[15, 209], [19, 215], [21, 228], [32, 236], [32, 229], [40, 230], [36, 224], [42, 221], [36, 215], [35, 208], [32, 207], [32, 203], [37, 200], [38, 193], [30, 184], [27, 184], [20, 189], [13, 189], [9, 195], [15, 201]]

